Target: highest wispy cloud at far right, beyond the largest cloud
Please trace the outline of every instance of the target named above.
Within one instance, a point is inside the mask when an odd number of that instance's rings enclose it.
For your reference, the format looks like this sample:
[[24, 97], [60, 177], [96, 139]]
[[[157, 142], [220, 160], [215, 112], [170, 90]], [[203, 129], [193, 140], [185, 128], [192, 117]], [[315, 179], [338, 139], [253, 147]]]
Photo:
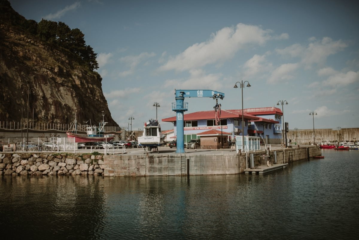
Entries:
[[300, 57], [302, 64], [310, 68], [312, 64], [323, 65], [327, 57], [348, 47], [342, 40], [333, 41], [329, 37], [323, 37], [321, 41], [315, 38], [309, 38], [311, 41], [308, 46], [293, 44], [284, 49], [277, 49], [280, 55], [289, 55], [291, 57]]

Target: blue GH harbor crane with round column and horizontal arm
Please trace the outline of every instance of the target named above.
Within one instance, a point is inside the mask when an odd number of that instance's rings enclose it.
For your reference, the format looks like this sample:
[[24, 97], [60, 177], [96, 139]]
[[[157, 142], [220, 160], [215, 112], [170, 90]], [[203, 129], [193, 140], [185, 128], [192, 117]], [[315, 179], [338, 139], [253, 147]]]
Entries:
[[176, 153], [184, 153], [183, 147], [183, 112], [187, 111], [188, 102], [183, 102], [185, 97], [211, 97], [213, 99], [223, 99], [224, 93], [213, 90], [175, 90], [176, 102], [172, 103], [172, 111], [176, 111], [176, 134], [177, 134], [177, 151]]

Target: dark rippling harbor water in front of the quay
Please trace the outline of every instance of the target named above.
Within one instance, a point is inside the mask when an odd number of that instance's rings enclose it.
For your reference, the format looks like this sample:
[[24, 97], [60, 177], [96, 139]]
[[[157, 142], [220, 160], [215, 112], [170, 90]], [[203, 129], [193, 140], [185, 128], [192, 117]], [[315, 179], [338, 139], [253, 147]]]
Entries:
[[359, 151], [266, 175], [0, 176], [2, 239], [358, 239]]

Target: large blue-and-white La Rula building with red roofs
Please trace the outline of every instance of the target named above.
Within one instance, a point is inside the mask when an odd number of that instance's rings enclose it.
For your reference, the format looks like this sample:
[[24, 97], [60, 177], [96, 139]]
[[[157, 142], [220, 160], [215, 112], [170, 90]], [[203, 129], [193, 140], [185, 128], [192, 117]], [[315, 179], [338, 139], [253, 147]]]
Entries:
[[[244, 135], [261, 137], [262, 142], [264, 143], [281, 143], [282, 115], [282, 111], [276, 107], [244, 109]], [[162, 121], [172, 122], [174, 125], [174, 133], [177, 132], [176, 116], [164, 118]], [[227, 138], [227, 142], [232, 141], [235, 137], [242, 136], [241, 109], [221, 110], [219, 125], [215, 124], [214, 110], [184, 114], [183, 121], [185, 142], [188, 142], [191, 139], [202, 138], [206, 133], [214, 134], [215, 131], [222, 132], [222, 134], [225, 132], [226, 134], [224, 135]]]

